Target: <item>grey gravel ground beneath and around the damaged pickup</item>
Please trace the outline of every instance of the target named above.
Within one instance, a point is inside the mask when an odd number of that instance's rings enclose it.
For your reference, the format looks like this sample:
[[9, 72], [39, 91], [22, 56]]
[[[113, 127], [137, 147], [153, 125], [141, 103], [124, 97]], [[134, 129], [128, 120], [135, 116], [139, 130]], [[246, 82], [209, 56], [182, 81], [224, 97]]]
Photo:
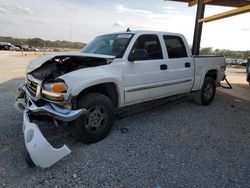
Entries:
[[9, 77], [0, 83], [0, 187], [250, 185], [249, 102], [218, 92], [207, 107], [187, 97], [132, 106], [117, 113], [106, 139], [91, 145], [75, 142], [67, 127], [43, 123], [48, 140], [67, 144], [72, 154], [49, 169], [29, 168], [22, 114], [13, 107], [24, 78]]

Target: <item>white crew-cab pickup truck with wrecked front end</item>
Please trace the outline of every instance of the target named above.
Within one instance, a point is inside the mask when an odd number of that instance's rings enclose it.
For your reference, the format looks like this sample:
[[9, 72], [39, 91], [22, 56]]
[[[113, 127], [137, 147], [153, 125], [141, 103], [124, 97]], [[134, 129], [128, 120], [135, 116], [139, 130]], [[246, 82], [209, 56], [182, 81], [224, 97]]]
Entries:
[[181, 93], [209, 105], [225, 69], [224, 57], [193, 56], [183, 35], [154, 31], [102, 35], [79, 53], [37, 58], [16, 101], [26, 161], [46, 168], [71, 152], [53, 148], [30, 116], [68, 122], [77, 140], [93, 143], [108, 135], [119, 107]]

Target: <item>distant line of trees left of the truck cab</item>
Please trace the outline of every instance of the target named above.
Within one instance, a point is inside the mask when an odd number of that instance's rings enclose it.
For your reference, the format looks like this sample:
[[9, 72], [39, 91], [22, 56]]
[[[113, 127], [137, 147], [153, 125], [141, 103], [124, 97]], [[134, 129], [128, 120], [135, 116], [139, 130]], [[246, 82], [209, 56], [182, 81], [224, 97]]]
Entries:
[[41, 38], [13, 38], [13, 37], [1, 37], [0, 36], [0, 42], [8, 42], [13, 45], [29, 45], [29, 46], [35, 46], [35, 47], [57, 47], [57, 48], [77, 48], [81, 49], [86, 44], [82, 42], [70, 42], [65, 40], [56, 40], [56, 41], [50, 41], [50, 40], [43, 40]]

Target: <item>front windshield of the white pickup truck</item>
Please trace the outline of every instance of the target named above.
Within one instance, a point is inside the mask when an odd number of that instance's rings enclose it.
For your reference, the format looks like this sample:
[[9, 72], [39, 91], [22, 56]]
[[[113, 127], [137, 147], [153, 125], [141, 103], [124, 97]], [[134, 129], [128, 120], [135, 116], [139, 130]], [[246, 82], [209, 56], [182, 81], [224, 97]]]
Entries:
[[131, 33], [110, 34], [96, 37], [81, 53], [111, 55], [121, 58], [132, 39]]

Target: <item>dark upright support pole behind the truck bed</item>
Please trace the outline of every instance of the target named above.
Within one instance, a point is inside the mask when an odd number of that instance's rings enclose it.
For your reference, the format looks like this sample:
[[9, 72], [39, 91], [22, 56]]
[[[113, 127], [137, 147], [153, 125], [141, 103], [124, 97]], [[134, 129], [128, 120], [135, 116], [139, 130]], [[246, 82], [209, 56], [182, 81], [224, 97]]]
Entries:
[[193, 47], [192, 47], [193, 55], [200, 54], [200, 43], [201, 43], [203, 22], [199, 23], [199, 19], [204, 17], [204, 12], [205, 12], [205, 4], [203, 3], [203, 0], [198, 0], [196, 19], [195, 19], [194, 37], [193, 37]]

